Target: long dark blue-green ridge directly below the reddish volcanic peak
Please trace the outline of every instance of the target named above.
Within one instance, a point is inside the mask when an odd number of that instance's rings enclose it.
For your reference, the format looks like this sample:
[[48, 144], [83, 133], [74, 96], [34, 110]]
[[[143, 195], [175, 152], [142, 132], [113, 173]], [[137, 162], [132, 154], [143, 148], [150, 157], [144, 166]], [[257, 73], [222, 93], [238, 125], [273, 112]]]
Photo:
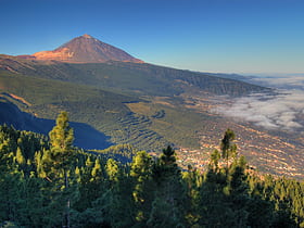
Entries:
[[0, 56], [0, 68], [63, 81], [118, 89], [141, 96], [177, 96], [182, 92], [204, 91], [213, 94], [244, 96], [268, 89], [251, 84], [195, 73], [156, 66], [147, 63], [106, 62], [71, 64], [26, 61]]

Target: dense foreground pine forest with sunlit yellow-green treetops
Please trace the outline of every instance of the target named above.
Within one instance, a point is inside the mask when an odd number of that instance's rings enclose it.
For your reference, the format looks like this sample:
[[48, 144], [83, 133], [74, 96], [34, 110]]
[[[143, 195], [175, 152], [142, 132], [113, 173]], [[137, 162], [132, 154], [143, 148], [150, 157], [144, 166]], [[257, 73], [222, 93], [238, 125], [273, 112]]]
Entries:
[[0, 126], [0, 226], [304, 227], [304, 183], [251, 170], [233, 139], [202, 174], [170, 145], [75, 148], [65, 112], [49, 137]]

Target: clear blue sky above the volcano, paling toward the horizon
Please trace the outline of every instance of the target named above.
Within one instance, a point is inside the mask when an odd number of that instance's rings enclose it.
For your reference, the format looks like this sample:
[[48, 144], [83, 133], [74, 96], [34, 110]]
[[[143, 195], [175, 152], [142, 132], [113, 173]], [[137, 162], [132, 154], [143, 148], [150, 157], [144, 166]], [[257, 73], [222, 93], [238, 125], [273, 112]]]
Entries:
[[83, 34], [176, 68], [304, 73], [304, 0], [0, 0], [0, 53]]

